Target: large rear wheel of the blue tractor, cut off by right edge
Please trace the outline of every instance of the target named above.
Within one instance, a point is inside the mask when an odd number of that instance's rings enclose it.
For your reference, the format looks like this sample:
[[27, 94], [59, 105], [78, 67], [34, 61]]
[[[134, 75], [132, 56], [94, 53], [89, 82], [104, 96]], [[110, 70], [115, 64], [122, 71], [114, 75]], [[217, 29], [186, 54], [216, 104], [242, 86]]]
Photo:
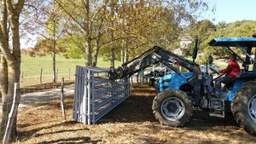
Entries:
[[236, 122], [250, 135], [256, 135], [256, 83], [244, 84], [231, 103]]

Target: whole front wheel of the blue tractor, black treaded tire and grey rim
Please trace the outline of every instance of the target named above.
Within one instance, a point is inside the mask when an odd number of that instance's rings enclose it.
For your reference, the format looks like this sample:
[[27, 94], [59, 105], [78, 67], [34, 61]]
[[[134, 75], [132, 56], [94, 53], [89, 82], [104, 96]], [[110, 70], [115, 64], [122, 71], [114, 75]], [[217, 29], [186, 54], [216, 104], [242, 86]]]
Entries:
[[193, 112], [188, 95], [179, 89], [164, 89], [154, 97], [152, 109], [160, 124], [173, 127], [183, 127]]

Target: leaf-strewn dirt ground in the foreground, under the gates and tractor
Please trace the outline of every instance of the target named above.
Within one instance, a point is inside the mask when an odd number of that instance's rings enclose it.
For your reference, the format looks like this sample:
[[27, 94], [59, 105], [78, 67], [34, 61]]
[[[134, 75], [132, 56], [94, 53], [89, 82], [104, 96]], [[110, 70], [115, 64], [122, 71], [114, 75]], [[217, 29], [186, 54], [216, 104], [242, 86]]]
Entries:
[[65, 99], [66, 121], [57, 100], [23, 108], [15, 143], [256, 143], [234, 118], [212, 118], [197, 109], [183, 128], [161, 125], [152, 113], [153, 99], [153, 88], [135, 86], [126, 101], [92, 125], [73, 121], [73, 95]]

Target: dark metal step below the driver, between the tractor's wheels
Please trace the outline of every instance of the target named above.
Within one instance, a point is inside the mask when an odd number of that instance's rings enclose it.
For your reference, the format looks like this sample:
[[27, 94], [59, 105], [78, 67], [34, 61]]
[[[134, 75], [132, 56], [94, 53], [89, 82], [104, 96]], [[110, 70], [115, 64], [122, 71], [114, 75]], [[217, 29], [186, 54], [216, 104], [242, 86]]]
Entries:
[[224, 105], [225, 105], [224, 99], [220, 99], [220, 98], [210, 99], [209, 101], [209, 109], [211, 110], [210, 116], [224, 118], [225, 117]]

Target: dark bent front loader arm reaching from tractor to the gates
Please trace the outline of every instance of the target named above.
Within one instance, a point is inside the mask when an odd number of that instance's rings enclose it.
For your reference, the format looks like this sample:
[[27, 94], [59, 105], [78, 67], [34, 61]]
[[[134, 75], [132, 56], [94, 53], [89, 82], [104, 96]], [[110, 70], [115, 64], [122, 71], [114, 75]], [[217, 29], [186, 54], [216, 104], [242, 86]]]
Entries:
[[[128, 66], [131, 62], [133, 63]], [[195, 64], [195, 62], [186, 60], [179, 55], [175, 55], [166, 49], [160, 48], [159, 46], [154, 46], [153, 48], [144, 51], [141, 55], [137, 55], [131, 60], [126, 61], [117, 69], [110, 67], [110, 78], [116, 79], [130, 77], [132, 74], [159, 62], [180, 75], [182, 75], [182, 73], [175, 66], [172, 66], [173, 63], [177, 63], [188, 69], [190, 72], [194, 72], [195, 76], [189, 79], [191, 82], [192, 79], [201, 79], [200, 67]]]

